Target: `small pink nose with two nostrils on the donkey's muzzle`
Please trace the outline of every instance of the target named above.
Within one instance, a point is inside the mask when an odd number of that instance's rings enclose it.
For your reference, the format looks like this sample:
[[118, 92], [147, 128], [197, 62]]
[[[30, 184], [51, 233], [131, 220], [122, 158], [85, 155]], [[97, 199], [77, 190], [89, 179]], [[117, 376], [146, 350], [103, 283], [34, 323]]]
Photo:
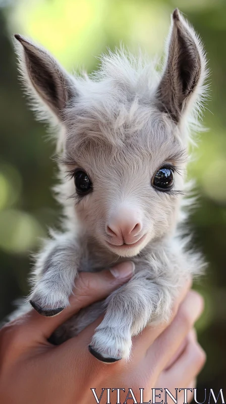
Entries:
[[121, 209], [120, 212], [112, 215], [106, 226], [107, 234], [120, 243], [137, 241], [141, 230], [142, 224], [137, 213], [128, 209]]

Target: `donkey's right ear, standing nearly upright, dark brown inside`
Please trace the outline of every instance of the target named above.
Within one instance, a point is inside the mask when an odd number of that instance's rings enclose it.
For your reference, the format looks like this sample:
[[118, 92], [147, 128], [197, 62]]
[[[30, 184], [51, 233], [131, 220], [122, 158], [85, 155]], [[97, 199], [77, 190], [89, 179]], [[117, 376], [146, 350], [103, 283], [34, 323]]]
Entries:
[[202, 45], [176, 9], [172, 15], [165, 68], [157, 90], [160, 110], [179, 122], [188, 104], [199, 95], [205, 76]]

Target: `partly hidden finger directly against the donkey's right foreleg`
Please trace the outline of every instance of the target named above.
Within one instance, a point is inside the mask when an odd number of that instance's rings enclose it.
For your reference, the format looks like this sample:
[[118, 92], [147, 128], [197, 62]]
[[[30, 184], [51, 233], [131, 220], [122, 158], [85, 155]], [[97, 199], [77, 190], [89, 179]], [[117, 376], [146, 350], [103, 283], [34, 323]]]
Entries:
[[141, 355], [141, 350], [146, 354], [146, 350], [155, 341], [155, 339], [168, 327], [168, 325], [173, 321], [177, 315], [178, 308], [181, 302], [185, 299], [188, 291], [192, 285], [192, 279], [189, 278], [184, 286], [181, 288], [177, 299], [174, 302], [174, 307], [172, 309], [172, 315], [167, 323], [161, 323], [159, 325], [148, 325], [137, 337], [133, 338], [133, 356], [136, 354]]

